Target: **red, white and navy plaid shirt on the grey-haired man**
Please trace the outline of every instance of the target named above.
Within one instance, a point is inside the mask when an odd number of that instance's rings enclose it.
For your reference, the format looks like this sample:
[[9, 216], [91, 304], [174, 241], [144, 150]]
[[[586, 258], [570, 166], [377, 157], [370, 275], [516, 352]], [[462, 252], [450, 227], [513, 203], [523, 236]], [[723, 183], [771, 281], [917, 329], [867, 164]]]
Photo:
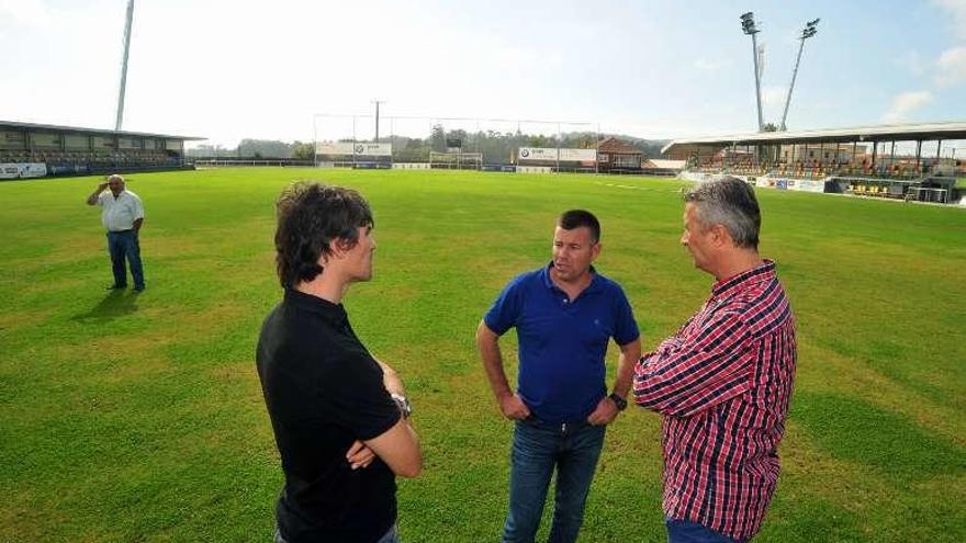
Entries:
[[664, 514], [737, 540], [762, 525], [795, 378], [795, 316], [775, 263], [715, 283], [634, 367], [634, 400], [664, 416]]

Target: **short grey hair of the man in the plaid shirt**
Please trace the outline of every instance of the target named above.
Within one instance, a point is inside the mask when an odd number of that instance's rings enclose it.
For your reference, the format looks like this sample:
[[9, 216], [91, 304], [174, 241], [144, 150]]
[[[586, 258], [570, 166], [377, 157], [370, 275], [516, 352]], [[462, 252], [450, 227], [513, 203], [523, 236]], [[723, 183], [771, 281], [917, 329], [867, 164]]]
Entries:
[[762, 212], [754, 189], [733, 177], [705, 181], [684, 191], [684, 201], [697, 207], [697, 222], [704, 228], [721, 225], [738, 247], [759, 248]]

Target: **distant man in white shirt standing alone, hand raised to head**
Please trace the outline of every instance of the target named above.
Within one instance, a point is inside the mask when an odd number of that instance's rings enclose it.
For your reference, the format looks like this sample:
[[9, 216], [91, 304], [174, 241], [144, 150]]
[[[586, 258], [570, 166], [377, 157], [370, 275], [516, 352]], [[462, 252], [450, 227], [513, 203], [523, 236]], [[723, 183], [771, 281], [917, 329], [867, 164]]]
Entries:
[[[105, 189], [111, 189], [110, 191]], [[87, 205], [101, 206], [101, 223], [108, 230], [108, 251], [114, 270], [114, 284], [108, 290], [127, 286], [127, 263], [134, 279], [134, 292], [144, 291], [138, 234], [144, 225], [144, 205], [137, 194], [124, 188], [124, 178], [113, 174], [87, 197]], [[126, 259], [126, 262], [125, 262]]]

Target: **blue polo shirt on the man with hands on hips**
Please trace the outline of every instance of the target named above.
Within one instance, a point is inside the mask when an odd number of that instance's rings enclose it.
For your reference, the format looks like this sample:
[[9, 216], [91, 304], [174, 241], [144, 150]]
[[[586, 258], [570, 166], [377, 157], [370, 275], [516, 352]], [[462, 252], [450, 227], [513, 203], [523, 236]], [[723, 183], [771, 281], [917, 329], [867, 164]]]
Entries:
[[550, 279], [549, 264], [514, 278], [483, 321], [503, 336], [517, 329], [517, 394], [548, 422], [584, 420], [607, 394], [604, 357], [610, 338], [624, 346], [640, 337], [624, 290], [591, 268], [576, 297]]

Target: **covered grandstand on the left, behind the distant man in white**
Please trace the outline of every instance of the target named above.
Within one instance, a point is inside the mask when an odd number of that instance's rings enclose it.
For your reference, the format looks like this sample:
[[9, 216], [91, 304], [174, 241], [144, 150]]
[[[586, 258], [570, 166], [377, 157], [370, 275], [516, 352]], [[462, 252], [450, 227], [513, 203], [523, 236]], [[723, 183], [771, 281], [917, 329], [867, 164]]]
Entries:
[[184, 142], [201, 139], [0, 121], [0, 179], [192, 168]]

